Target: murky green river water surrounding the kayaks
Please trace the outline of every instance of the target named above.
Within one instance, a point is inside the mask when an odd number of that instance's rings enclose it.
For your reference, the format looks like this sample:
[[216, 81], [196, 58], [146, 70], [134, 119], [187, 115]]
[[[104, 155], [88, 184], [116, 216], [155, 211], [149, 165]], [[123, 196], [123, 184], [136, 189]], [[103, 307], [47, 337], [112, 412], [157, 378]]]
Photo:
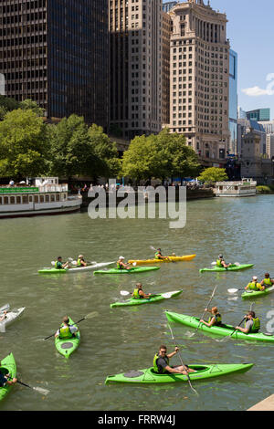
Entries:
[[[0, 222], [1, 302], [11, 308], [26, 306], [22, 319], [0, 334], [0, 359], [12, 351], [19, 380], [47, 388], [47, 397], [16, 385], [0, 405], [1, 410], [246, 410], [273, 393], [273, 347], [264, 343], [228, 340], [225, 343], [173, 324], [174, 337], [187, 363], [254, 362], [248, 372], [195, 382], [199, 400], [187, 383], [175, 385], [105, 385], [107, 375], [147, 368], [161, 344], [174, 351], [163, 313], [201, 316], [217, 285], [217, 305], [223, 320], [238, 324], [250, 303], [231, 296], [227, 288], [241, 288], [249, 279], [274, 276], [273, 196], [210, 199], [187, 203], [183, 229], [169, 229], [167, 220], [98, 219], [87, 213], [6, 219]], [[83, 254], [92, 261], [116, 261], [118, 256], [153, 256], [150, 246], [163, 253], [196, 254], [191, 262], [162, 264], [161, 269], [139, 276], [93, 276], [93, 272], [41, 276], [40, 267], [61, 255]], [[200, 274], [223, 253], [229, 262], [254, 263], [247, 271]], [[272, 273], [271, 273], [272, 269]], [[142, 281], [144, 290], [184, 293], [161, 303], [110, 309]], [[234, 299], [231, 299], [234, 298]], [[266, 331], [273, 298], [258, 298], [255, 311]], [[98, 316], [79, 324], [79, 349], [65, 360], [54, 339], [43, 338], [58, 329], [64, 315], [79, 320], [97, 311]], [[173, 364], [179, 364], [174, 357]], [[253, 392], [255, 394], [250, 394]]]

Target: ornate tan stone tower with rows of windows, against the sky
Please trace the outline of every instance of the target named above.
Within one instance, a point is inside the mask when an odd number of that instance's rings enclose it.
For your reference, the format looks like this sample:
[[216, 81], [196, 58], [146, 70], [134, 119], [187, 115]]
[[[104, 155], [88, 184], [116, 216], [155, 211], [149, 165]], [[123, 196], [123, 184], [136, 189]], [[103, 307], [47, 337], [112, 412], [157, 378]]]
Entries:
[[169, 12], [171, 122], [206, 163], [225, 161], [228, 144], [229, 42], [227, 16], [188, 0]]

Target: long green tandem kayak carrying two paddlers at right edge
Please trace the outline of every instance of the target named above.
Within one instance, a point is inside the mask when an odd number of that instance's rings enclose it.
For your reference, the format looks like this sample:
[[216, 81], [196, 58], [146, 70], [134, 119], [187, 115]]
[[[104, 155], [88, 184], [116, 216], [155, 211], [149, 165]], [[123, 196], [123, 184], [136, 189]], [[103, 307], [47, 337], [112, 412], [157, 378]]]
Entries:
[[[165, 316], [169, 321], [183, 323], [183, 325], [185, 326], [189, 326], [190, 328], [195, 329], [198, 328], [205, 333], [210, 333], [218, 337], [229, 337], [235, 330], [235, 327], [225, 324], [222, 324], [222, 326], [212, 326], [211, 328], [208, 328], [206, 325], [204, 325], [204, 323], [200, 323], [199, 318], [186, 316], [184, 314], [173, 313], [170, 311], [165, 311]], [[274, 343], [274, 335], [265, 334], [263, 332], [245, 334], [244, 332], [237, 330], [236, 332], [234, 332], [231, 338], [236, 340], [266, 341]]]

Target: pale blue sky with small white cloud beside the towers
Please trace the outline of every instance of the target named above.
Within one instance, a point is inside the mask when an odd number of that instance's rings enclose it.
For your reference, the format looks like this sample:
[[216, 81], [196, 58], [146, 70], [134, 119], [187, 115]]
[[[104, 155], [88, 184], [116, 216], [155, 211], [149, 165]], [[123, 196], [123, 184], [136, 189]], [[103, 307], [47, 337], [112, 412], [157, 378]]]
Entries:
[[210, 5], [227, 14], [227, 38], [238, 56], [238, 106], [270, 108], [273, 120], [274, 1], [210, 0]]

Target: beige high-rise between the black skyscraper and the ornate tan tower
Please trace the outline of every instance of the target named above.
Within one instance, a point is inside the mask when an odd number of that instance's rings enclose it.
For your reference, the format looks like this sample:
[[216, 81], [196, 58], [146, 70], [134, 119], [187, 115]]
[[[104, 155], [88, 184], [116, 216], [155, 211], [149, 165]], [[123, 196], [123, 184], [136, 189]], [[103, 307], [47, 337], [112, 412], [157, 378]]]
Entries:
[[110, 123], [125, 139], [162, 129], [162, 0], [109, 0]]

